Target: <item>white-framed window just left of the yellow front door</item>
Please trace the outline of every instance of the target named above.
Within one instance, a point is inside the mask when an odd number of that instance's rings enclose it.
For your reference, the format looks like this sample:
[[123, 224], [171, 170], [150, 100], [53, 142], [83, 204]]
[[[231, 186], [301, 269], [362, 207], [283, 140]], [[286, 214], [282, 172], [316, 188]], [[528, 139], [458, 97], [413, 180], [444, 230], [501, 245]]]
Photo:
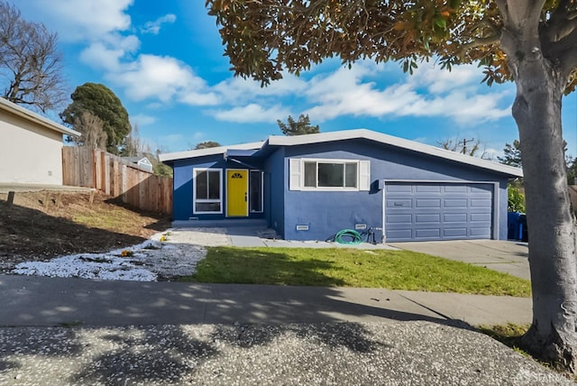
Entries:
[[195, 214], [223, 213], [223, 170], [194, 169]]

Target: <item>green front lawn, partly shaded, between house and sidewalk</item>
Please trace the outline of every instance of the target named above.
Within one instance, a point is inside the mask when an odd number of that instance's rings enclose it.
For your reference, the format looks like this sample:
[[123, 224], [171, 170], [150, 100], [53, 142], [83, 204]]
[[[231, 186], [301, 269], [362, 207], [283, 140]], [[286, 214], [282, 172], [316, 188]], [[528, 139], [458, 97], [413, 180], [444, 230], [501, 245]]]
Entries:
[[208, 248], [185, 281], [361, 287], [528, 297], [528, 280], [409, 251]]

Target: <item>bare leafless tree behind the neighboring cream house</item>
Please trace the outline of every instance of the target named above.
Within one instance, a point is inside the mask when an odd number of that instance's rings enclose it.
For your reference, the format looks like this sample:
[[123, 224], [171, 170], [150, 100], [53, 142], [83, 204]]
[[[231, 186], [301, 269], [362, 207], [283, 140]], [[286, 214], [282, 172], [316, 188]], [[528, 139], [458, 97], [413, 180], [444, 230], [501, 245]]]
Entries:
[[58, 37], [41, 23], [27, 22], [0, 0], [0, 90], [2, 97], [45, 113], [68, 97]]

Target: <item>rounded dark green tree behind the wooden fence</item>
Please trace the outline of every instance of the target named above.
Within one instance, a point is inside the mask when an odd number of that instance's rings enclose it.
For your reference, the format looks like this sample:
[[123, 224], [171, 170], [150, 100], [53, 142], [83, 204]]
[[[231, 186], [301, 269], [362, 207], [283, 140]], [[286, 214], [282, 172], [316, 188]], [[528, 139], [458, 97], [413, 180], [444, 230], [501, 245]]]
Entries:
[[74, 127], [77, 117], [83, 112], [90, 112], [102, 120], [106, 138], [106, 150], [113, 154], [120, 152], [119, 146], [131, 132], [128, 112], [114, 92], [102, 84], [85, 83], [78, 86], [70, 96], [72, 103], [60, 113], [66, 124]]

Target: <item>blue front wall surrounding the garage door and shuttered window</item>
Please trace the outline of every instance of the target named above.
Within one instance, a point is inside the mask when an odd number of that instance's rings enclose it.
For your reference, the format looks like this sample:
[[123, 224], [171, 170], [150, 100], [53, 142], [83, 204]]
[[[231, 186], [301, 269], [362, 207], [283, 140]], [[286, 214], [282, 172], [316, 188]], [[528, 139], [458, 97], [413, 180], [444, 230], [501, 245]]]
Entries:
[[[371, 161], [371, 191], [302, 191], [289, 190], [289, 159], [313, 158]], [[481, 170], [460, 162], [365, 140], [325, 142], [287, 147], [284, 160], [284, 237], [293, 240], [325, 240], [355, 224], [382, 226], [383, 194], [379, 180], [408, 181], [479, 181], [497, 182], [499, 189], [493, 205], [497, 206], [494, 226], [496, 236], [507, 238], [507, 176]], [[308, 225], [298, 231], [297, 225]], [[376, 233], [380, 242], [380, 231]]]

